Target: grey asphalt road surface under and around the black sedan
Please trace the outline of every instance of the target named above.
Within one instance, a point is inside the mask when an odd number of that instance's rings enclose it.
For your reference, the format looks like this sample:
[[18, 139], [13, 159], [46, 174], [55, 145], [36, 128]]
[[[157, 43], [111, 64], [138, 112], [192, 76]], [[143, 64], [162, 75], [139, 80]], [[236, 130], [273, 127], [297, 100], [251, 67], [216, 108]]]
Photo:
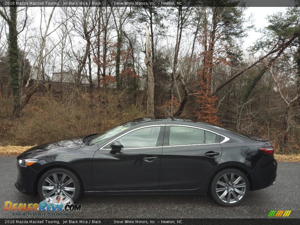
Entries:
[[[19, 192], [16, 179], [16, 157], [0, 156], [0, 218], [16, 218], [4, 211], [5, 201], [39, 202]], [[267, 218], [270, 210], [292, 210], [289, 218], [300, 218], [300, 163], [278, 163], [275, 185], [249, 192], [238, 207], [222, 207], [202, 195], [96, 195], [78, 203], [82, 210], [72, 218]]]

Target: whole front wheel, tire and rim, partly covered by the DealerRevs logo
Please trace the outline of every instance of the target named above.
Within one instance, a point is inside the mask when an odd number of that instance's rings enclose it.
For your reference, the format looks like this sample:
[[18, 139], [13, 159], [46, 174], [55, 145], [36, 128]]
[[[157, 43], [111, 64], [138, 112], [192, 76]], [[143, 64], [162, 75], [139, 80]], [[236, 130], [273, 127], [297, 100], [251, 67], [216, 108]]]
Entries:
[[67, 203], [75, 202], [80, 195], [80, 182], [70, 170], [54, 168], [42, 175], [37, 185], [37, 192], [41, 199], [47, 202]]

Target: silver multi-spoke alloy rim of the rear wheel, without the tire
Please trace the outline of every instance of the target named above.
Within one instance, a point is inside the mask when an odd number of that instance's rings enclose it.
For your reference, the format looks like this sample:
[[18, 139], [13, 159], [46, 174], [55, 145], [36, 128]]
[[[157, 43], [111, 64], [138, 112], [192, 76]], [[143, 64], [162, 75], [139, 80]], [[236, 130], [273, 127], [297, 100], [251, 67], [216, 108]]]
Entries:
[[246, 192], [246, 183], [237, 173], [222, 175], [216, 184], [217, 196], [226, 203], [235, 203], [242, 199]]

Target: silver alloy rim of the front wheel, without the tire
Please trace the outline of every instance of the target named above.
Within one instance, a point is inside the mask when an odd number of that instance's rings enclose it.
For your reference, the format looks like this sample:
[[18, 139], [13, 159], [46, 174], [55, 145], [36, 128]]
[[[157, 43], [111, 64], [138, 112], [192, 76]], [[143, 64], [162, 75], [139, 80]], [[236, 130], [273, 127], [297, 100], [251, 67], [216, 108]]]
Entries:
[[43, 181], [42, 194], [50, 202], [55, 201], [57, 196], [72, 199], [75, 194], [75, 184], [67, 174], [52, 173]]

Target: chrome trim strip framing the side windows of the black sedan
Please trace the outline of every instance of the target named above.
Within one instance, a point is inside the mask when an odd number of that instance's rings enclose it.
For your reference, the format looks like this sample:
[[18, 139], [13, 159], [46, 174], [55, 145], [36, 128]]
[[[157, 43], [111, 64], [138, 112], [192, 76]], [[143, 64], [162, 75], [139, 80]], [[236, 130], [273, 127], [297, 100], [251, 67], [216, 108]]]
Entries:
[[[182, 125], [182, 124], [155, 124], [155, 125], [148, 125], [148, 126], [143, 126], [143, 127], [139, 127], [139, 128], [135, 128], [133, 130], [130, 130], [126, 133], [123, 133], [122, 135], [118, 136], [117, 138], [113, 139], [112, 141], [110, 141], [109, 143], [107, 143], [105, 146], [99, 148], [99, 149], [103, 149], [103, 150], [110, 150], [110, 148], [104, 148], [106, 146], [108, 146], [110, 143], [113, 143], [115, 140], [119, 139], [119, 138], [122, 138], [124, 135], [128, 134], [128, 133], [131, 133], [133, 131], [136, 131], [136, 130], [139, 130], [139, 129], [142, 129], [142, 128], [148, 128], [148, 127], [160, 127], [160, 126], [175, 126], [175, 127], [189, 127], [189, 128], [196, 128], [196, 129], [200, 129], [200, 130], [205, 130], [205, 131], [208, 131], [208, 132], [211, 132], [211, 133], [215, 133], [217, 135], [220, 135], [222, 137], [224, 137], [224, 140], [220, 143], [207, 143], [207, 144], [191, 144], [191, 145], [168, 145], [168, 146], [154, 146], [154, 147], [141, 147], [142, 149], [143, 148], [167, 148], [167, 147], [180, 147], [180, 146], [194, 146], [194, 145], [211, 145], [211, 144], [222, 144], [222, 143], [225, 143], [227, 141], [230, 140], [230, 138], [227, 138], [226, 136], [220, 134], [220, 133], [217, 133], [217, 132], [214, 132], [214, 131], [211, 131], [211, 130], [208, 130], [208, 129], [205, 129], [205, 128], [199, 128], [199, 127], [195, 127], [195, 126], [190, 126], [190, 125]], [[140, 148], [122, 148], [124, 150], [126, 149], [140, 149]]]

